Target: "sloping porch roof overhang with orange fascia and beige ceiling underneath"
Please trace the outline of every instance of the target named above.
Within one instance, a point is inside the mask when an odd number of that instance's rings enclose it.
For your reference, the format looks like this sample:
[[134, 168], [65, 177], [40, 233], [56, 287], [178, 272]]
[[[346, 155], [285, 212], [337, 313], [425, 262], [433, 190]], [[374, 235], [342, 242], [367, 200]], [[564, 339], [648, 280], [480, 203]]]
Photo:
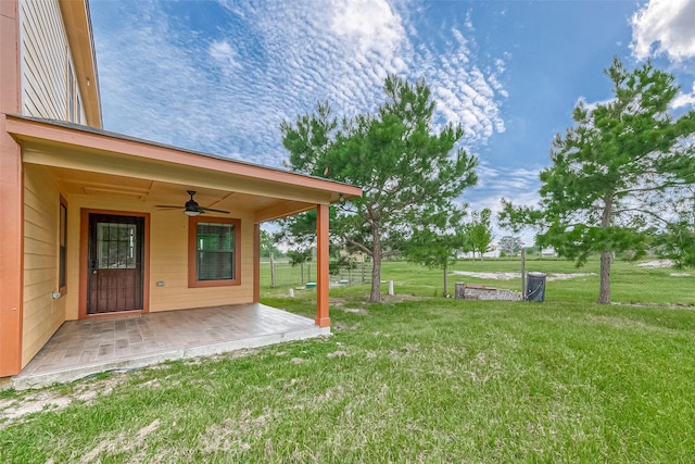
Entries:
[[46, 166], [68, 195], [252, 212], [269, 221], [358, 197], [345, 184], [134, 139], [70, 123], [7, 115], [23, 162]]

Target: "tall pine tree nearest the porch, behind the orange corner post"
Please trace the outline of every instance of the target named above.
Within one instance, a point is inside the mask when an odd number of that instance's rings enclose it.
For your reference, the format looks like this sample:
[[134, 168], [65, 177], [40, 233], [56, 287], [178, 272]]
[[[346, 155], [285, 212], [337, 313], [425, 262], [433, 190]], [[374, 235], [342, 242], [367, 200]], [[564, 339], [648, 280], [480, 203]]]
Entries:
[[458, 197], [478, 179], [478, 160], [456, 149], [462, 127], [434, 129], [435, 103], [424, 80], [392, 75], [383, 90], [375, 114], [339, 123], [320, 103], [314, 114], [280, 126], [292, 170], [363, 188], [363, 197], [338, 206], [331, 233], [371, 258], [371, 302], [381, 299], [382, 260], [458, 209]]

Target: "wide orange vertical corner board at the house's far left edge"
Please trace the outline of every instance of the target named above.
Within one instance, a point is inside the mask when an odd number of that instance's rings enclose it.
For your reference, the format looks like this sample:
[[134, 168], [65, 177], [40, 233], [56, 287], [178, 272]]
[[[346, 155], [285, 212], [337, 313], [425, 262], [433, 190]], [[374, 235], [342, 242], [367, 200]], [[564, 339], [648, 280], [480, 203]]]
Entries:
[[22, 369], [24, 183], [22, 150], [3, 113], [21, 113], [17, 1], [0, 1], [0, 377]]

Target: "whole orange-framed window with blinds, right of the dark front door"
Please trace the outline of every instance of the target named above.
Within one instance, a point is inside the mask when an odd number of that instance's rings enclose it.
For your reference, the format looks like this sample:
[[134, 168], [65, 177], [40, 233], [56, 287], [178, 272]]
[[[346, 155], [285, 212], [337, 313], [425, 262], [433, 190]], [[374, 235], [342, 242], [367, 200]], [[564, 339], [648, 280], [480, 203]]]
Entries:
[[189, 287], [241, 284], [240, 224], [222, 217], [189, 218]]

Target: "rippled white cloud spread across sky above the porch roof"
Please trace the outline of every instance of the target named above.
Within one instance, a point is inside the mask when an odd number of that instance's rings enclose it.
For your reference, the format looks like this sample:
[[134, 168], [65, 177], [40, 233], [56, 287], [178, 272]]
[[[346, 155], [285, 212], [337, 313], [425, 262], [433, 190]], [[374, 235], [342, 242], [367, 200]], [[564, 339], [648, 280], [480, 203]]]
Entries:
[[422, 34], [419, 0], [194, 8], [224, 21], [191, 30], [165, 2], [91, 5], [108, 129], [279, 166], [282, 120], [325, 100], [339, 116], [374, 111], [395, 73], [427, 80], [438, 124], [460, 123], [468, 148], [504, 131], [507, 57], [483, 63], [472, 24]]

